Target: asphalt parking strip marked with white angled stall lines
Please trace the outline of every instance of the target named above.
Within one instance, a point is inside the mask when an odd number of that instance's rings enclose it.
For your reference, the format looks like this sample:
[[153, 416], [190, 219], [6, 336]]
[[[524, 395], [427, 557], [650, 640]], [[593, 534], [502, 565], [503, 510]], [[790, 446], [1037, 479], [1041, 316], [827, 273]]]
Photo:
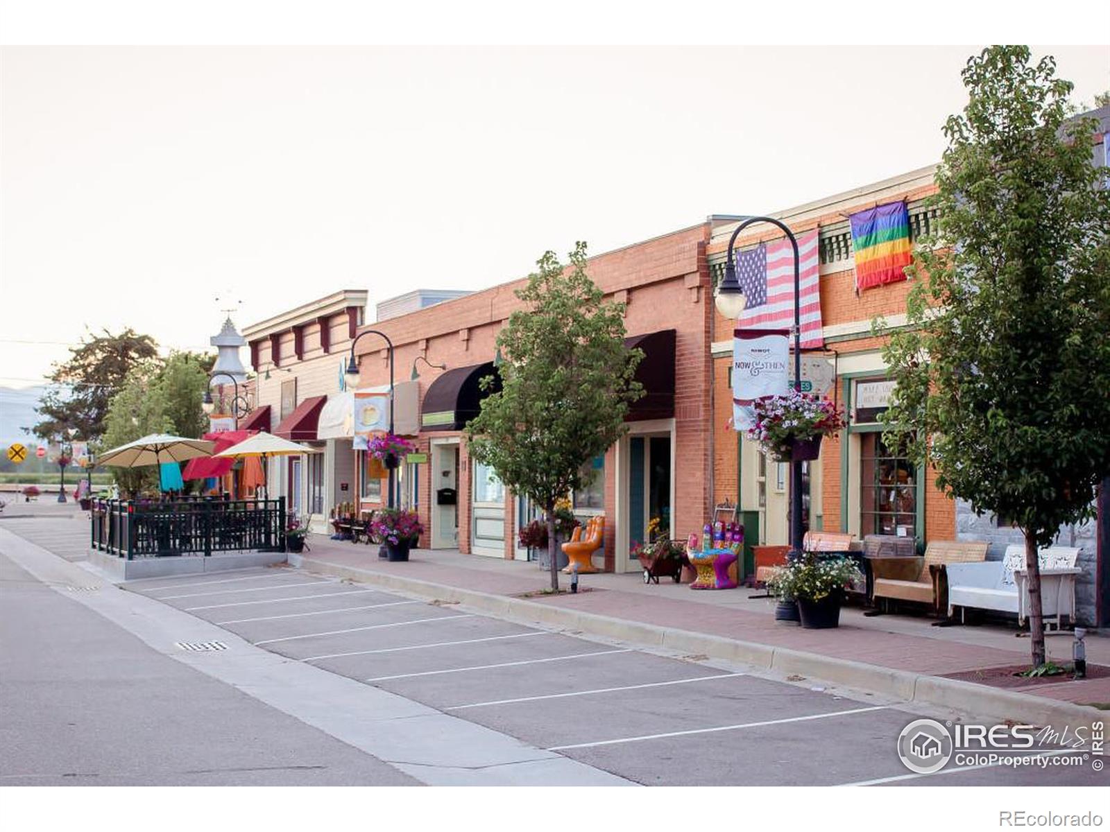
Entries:
[[291, 568], [127, 589], [289, 660], [642, 784], [1106, 785], [1090, 765], [909, 773], [919, 708], [468, 613]]

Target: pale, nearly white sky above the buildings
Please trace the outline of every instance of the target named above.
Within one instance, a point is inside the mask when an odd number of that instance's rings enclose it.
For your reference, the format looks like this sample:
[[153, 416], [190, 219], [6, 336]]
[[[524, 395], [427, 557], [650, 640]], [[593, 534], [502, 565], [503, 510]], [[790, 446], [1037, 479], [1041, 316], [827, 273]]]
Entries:
[[[222, 310], [481, 290], [931, 164], [979, 48], [4, 47], [0, 386], [88, 331], [203, 349]], [[1033, 49], [1110, 88], [1110, 49]]]

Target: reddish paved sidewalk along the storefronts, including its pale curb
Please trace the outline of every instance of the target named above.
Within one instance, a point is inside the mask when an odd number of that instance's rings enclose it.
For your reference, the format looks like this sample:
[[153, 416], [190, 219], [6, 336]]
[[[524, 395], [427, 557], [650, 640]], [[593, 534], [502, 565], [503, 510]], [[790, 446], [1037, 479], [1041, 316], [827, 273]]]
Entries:
[[[639, 574], [579, 578], [577, 595], [529, 596], [549, 585], [547, 572], [528, 561], [457, 551], [413, 550], [408, 562], [380, 560], [376, 546], [309, 538], [311, 551], [291, 556], [324, 571], [426, 597], [477, 603], [487, 611], [529, 618], [629, 641], [669, 643], [690, 652], [728, 658], [848, 687], [876, 690], [981, 714], [1006, 713], [1039, 724], [1051, 719], [1104, 714], [1088, 706], [1110, 702], [1110, 678], [1028, 684], [1002, 690], [941, 677], [1029, 662], [1029, 640], [1005, 626], [932, 627], [932, 619], [900, 615], [864, 617], [845, 608], [840, 627], [804, 630], [776, 623], [774, 601], [749, 599], [740, 588], [692, 591], [665, 579], [646, 586]], [[562, 576], [562, 587], [569, 576]], [[1048, 638], [1049, 657], [1070, 662], [1070, 635]], [[1090, 664], [1110, 666], [1110, 639], [1087, 638]], [[724, 655], [722, 655], [724, 658]], [[793, 670], [791, 670], [793, 669]], [[1053, 707], [1058, 706], [1056, 710]], [[1022, 716], [1023, 714], [1023, 716]]]

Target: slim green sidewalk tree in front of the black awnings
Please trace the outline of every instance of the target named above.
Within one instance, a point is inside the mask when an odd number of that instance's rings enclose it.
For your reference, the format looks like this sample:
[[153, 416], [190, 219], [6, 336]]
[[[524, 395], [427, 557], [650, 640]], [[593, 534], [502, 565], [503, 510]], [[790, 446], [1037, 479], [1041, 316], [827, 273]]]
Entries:
[[[466, 426], [471, 455], [546, 514], [556, 591], [555, 503], [585, 485], [583, 466], [624, 434], [628, 405], [643, 395], [633, 379], [643, 353], [625, 346], [623, 304], [603, 303], [586, 274], [585, 243], [569, 261], [564, 270], [546, 252], [517, 290], [526, 308], [497, 334], [502, 388]], [[482, 379], [485, 389], [492, 384]]]

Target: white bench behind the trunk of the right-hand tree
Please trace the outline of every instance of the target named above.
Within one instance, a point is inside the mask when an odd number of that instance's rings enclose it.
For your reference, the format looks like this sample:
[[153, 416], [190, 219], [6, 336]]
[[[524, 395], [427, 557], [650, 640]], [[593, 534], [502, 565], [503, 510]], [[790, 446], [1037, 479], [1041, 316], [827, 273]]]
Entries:
[[[1076, 576], [1082, 569], [1076, 568], [1079, 549], [1071, 546], [1050, 546], [1037, 552], [1041, 576], [1041, 616], [1054, 617], [1060, 629], [1060, 617], [1076, 619]], [[963, 610], [989, 609], [997, 612], [1015, 612], [1018, 623], [1023, 625], [1029, 617], [1028, 575], [1026, 574], [1026, 547], [1008, 546], [1001, 560], [980, 564], [948, 565], [948, 617], [960, 608]]]

